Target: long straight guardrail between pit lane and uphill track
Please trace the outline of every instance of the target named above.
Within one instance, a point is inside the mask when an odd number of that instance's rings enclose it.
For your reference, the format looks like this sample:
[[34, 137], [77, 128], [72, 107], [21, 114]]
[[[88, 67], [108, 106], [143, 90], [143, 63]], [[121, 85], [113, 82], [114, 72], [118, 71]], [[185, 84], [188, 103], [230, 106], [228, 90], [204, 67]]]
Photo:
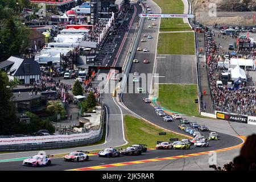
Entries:
[[[140, 3], [143, 13], [146, 13], [146, 9], [144, 8], [144, 4]], [[125, 79], [122, 79], [121, 84], [120, 84], [120, 93], [123, 92], [123, 89], [125, 88], [125, 83], [127, 80], [127, 76], [129, 74], [130, 68], [131, 68], [131, 64], [133, 63], [133, 57], [134, 54], [136, 52], [137, 49], [137, 45], [138, 45], [138, 40], [139, 37], [141, 35], [141, 31], [143, 28], [143, 24], [144, 24], [144, 18], [139, 19], [138, 22], [138, 26], [135, 29], [135, 33], [133, 35], [133, 38], [131, 39], [131, 44], [129, 47], [129, 51], [127, 52], [126, 58], [125, 58], [125, 62], [123, 63], [123, 73], [126, 76]]]

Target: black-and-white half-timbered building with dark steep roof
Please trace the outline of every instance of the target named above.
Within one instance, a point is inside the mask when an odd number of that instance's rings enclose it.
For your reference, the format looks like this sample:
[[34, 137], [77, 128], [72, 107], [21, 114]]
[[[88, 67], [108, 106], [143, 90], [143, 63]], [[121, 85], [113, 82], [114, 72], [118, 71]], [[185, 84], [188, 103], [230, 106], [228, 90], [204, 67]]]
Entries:
[[22, 84], [32, 84], [40, 80], [40, 65], [32, 59], [11, 56], [0, 63], [0, 69], [7, 72], [10, 80], [17, 78]]

